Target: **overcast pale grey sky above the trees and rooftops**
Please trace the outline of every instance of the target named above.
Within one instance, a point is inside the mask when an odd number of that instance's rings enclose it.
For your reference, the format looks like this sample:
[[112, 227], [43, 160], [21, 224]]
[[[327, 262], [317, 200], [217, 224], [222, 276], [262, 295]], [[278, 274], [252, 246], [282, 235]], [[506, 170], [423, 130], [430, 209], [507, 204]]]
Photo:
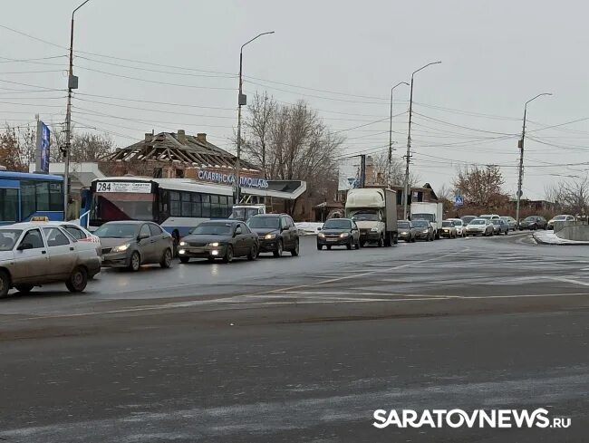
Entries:
[[[63, 48], [0, 27], [0, 126], [32, 122], [35, 113], [63, 122], [65, 93], [27, 85], [66, 87], [64, 48], [80, 3], [3, 2], [0, 25]], [[441, 60], [416, 74], [414, 88], [411, 168], [434, 188], [464, 162], [493, 162], [505, 165], [506, 189], [515, 192], [524, 103], [553, 92], [528, 108], [524, 195], [541, 198], [547, 183], [587, 169], [563, 165], [589, 160], [589, 120], [544, 128], [589, 118], [588, 16], [582, 1], [91, 0], [76, 13], [72, 119], [110, 131], [120, 146], [152, 129], [185, 129], [227, 149], [239, 47], [272, 30], [246, 47], [246, 92], [308, 101], [347, 137], [346, 153], [386, 150], [388, 121], [368, 123], [389, 115], [393, 84]], [[394, 112], [407, 111], [408, 99], [409, 88], [398, 88]], [[393, 130], [401, 157], [406, 113]]]

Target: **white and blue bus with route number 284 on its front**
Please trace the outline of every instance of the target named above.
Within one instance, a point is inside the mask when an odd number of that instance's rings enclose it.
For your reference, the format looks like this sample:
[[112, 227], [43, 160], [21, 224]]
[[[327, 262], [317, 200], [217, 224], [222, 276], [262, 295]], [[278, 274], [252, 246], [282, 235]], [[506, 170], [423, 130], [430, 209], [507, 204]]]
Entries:
[[93, 231], [109, 221], [153, 221], [178, 241], [204, 220], [229, 217], [232, 206], [230, 186], [190, 178], [96, 178], [82, 191], [80, 224]]

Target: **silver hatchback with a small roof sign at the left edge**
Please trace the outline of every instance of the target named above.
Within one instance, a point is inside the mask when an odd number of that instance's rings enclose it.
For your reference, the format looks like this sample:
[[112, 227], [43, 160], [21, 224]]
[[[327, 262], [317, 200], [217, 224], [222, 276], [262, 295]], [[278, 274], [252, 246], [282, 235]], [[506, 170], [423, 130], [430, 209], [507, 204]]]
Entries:
[[28, 293], [53, 282], [82, 292], [100, 270], [96, 249], [80, 244], [60, 226], [20, 223], [0, 228], [0, 298], [13, 287]]

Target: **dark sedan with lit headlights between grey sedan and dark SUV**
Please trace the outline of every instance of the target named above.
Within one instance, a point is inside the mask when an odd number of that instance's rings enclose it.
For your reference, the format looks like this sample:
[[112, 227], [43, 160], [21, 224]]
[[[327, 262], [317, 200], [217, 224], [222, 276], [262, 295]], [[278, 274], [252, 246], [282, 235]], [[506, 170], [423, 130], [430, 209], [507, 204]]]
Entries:
[[239, 220], [210, 220], [188, 231], [179, 243], [180, 262], [190, 258], [207, 258], [209, 262], [221, 258], [230, 263], [234, 257], [246, 256], [256, 260], [259, 243], [257, 234]]

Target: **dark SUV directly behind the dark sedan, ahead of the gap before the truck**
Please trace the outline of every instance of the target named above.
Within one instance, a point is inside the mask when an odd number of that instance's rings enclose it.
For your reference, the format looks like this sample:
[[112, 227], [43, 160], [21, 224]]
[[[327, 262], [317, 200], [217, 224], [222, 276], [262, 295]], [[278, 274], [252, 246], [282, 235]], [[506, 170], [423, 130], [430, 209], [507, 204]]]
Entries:
[[246, 225], [259, 237], [259, 252], [271, 252], [275, 257], [289, 251], [299, 255], [299, 231], [286, 214], [260, 214], [250, 217]]

